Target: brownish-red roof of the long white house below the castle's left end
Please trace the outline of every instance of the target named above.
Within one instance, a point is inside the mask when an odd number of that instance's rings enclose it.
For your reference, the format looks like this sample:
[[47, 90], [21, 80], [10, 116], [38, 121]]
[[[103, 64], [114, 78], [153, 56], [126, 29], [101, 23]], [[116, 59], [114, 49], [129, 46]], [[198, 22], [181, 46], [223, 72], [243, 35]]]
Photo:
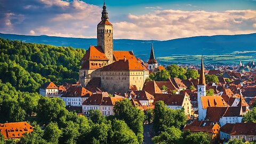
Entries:
[[84, 87], [71, 86], [66, 92], [63, 92], [61, 97], [90, 97], [90, 95], [92, 95], [92, 92]]

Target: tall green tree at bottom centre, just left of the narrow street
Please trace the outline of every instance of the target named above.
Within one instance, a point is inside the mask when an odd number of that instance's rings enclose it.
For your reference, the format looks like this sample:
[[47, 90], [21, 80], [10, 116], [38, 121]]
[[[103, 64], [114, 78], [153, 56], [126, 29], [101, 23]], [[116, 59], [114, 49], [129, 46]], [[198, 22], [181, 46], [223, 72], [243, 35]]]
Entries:
[[133, 107], [131, 101], [124, 99], [117, 101], [114, 106], [114, 113], [117, 119], [125, 121], [130, 129], [137, 135], [139, 143], [143, 141], [143, 111]]

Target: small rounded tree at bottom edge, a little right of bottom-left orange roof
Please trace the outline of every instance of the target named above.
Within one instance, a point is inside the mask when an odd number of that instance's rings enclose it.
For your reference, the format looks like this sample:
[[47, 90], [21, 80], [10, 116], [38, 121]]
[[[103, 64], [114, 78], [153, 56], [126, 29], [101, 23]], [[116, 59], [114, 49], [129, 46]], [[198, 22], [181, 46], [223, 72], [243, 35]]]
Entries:
[[57, 123], [50, 122], [44, 131], [43, 138], [49, 143], [59, 143], [59, 138], [61, 137], [61, 130], [58, 127]]

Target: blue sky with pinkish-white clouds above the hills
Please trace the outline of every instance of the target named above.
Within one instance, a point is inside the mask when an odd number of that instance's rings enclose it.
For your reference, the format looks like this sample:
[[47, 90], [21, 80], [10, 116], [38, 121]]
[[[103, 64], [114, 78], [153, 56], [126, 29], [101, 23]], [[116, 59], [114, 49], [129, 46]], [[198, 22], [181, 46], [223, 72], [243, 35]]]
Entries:
[[[256, 33], [256, 0], [105, 0], [114, 38]], [[0, 0], [0, 33], [96, 38], [103, 0]]]

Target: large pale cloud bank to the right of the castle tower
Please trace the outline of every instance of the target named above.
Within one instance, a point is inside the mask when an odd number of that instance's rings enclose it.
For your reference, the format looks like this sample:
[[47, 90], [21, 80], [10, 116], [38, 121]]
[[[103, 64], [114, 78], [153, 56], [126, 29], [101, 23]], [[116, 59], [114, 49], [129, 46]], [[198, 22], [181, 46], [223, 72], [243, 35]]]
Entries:
[[115, 38], [173, 39], [199, 35], [255, 33], [255, 10], [225, 12], [157, 10], [142, 15], [127, 15], [127, 21], [115, 22]]

